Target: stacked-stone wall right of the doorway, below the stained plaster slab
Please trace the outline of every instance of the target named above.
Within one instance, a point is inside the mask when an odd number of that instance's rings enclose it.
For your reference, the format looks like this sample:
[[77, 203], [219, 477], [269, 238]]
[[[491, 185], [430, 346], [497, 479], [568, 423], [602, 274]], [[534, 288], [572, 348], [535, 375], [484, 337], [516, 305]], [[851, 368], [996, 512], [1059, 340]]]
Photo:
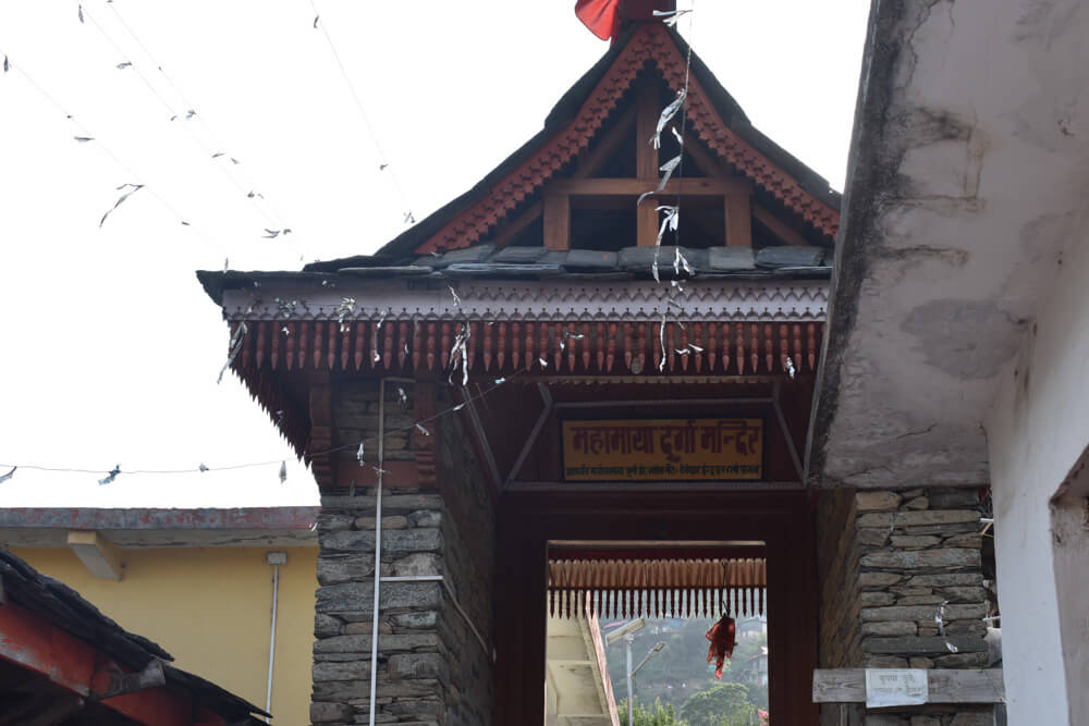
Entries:
[[[828, 492], [820, 513], [823, 667], [987, 667], [977, 490]], [[992, 726], [994, 714], [970, 705], [902, 713], [833, 705], [821, 710], [821, 721]]]

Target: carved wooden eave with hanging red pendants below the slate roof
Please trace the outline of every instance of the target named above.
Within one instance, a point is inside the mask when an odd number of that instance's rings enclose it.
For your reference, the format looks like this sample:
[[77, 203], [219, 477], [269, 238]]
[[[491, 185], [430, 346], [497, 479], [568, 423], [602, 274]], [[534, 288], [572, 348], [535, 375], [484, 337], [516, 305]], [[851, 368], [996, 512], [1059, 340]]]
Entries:
[[223, 292], [232, 336], [246, 325], [232, 369], [299, 456], [331, 442], [331, 376], [445, 383], [463, 331], [474, 380], [787, 379], [816, 371], [828, 302], [812, 280], [690, 280], [678, 297], [651, 281], [258, 278]]

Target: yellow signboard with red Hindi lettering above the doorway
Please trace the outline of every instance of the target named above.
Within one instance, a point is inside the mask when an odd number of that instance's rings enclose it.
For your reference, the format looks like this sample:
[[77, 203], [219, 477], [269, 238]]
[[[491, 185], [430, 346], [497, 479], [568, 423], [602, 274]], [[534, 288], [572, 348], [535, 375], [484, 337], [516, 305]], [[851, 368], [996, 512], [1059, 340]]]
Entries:
[[763, 479], [763, 419], [563, 422], [566, 481]]

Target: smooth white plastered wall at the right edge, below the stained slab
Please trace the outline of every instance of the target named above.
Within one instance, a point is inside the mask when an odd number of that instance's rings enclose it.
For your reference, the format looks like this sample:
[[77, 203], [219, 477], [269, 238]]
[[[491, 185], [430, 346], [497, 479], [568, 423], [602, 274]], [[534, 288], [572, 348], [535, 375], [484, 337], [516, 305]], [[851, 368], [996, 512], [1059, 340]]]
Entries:
[[[1067, 666], [1075, 675], [1085, 667], [1076, 661], [1086, 654], [1072, 644], [1089, 642], [1089, 562], [1078, 574], [1061, 544], [1056, 557], [1051, 505], [1089, 447], [1085, 221], [1082, 216], [1076, 227], [1081, 235], [1056, 260], [1052, 284], [1040, 292], [1050, 292], [1050, 299], [1041, 304], [1017, 358], [1003, 373], [987, 421], [1011, 724], [1089, 724], [1080, 705], [1085, 687], [1068, 688], [1066, 673]], [[1067, 546], [1078, 544], [1068, 541]], [[1072, 620], [1078, 610], [1082, 617]], [[1064, 662], [1064, 641], [1075, 662]]]

